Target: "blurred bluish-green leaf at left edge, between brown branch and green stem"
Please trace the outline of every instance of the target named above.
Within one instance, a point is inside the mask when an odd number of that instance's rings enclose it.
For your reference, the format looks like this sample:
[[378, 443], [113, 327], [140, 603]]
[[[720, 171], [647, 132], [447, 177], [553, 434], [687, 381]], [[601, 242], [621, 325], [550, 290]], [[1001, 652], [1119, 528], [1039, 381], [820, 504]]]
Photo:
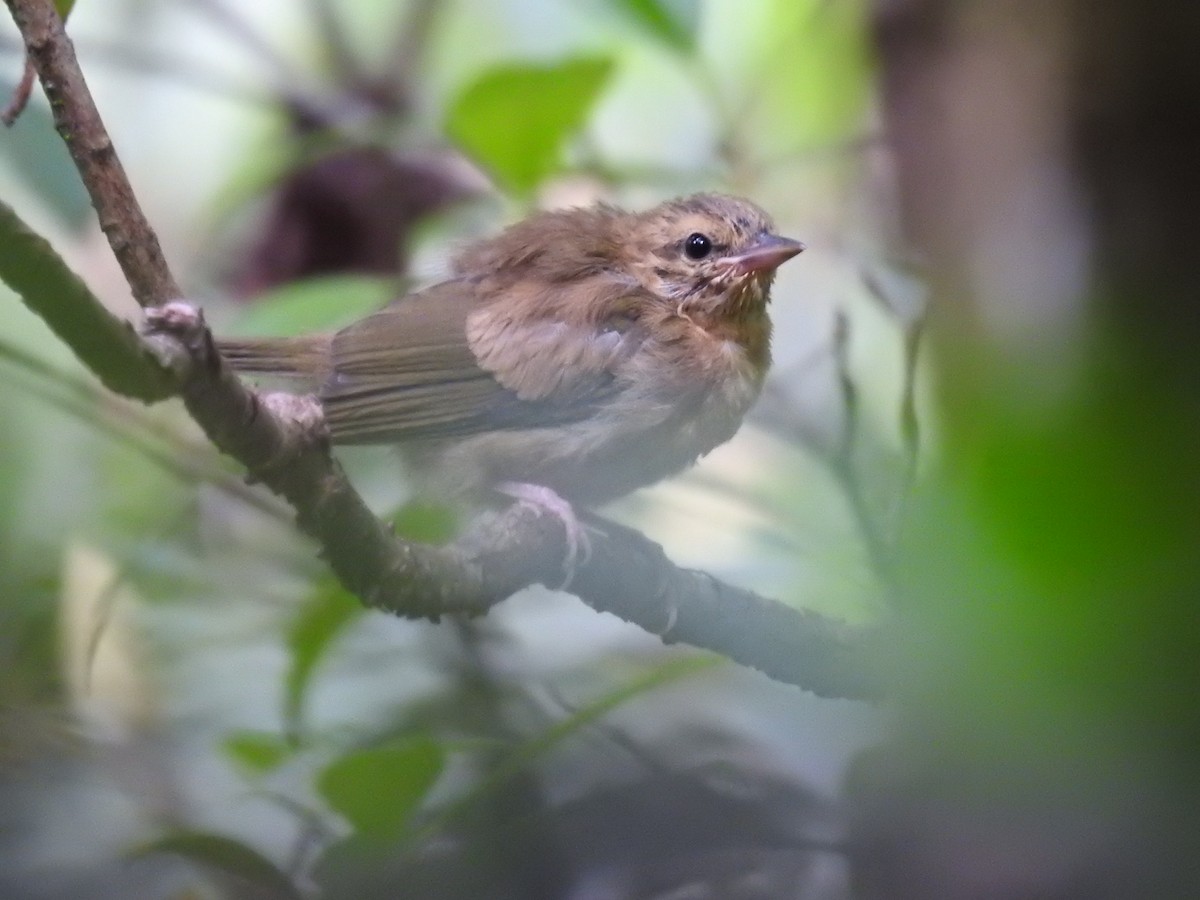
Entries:
[[[0, 78], [0, 97], [5, 98], [0, 106], [7, 103], [14, 88], [13, 82]], [[0, 156], [68, 228], [78, 232], [90, 221], [88, 192], [44, 107], [31, 103], [11, 128], [0, 131]]]

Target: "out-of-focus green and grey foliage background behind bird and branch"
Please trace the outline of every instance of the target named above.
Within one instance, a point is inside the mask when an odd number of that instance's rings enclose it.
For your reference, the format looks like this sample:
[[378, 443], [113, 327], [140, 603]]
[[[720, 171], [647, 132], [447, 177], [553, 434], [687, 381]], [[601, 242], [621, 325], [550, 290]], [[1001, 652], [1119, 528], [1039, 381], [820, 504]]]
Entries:
[[[362, 612], [0, 286], [0, 896], [1194, 895], [1196, 23], [1087, 7], [78, 0], [218, 332], [344, 324], [535, 208], [767, 208], [809, 250], [760, 407], [606, 512], [887, 629], [888, 698], [544, 589]], [[0, 96], [22, 65], [0, 23]], [[0, 198], [136, 316], [37, 90]]]

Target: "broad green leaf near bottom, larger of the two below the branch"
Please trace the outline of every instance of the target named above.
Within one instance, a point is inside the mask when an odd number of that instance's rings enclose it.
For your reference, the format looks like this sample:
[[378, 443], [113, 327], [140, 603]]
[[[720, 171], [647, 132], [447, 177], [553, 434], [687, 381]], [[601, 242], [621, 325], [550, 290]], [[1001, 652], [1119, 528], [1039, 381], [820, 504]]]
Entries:
[[418, 804], [442, 774], [445, 757], [430, 738], [348, 754], [317, 779], [317, 790], [361, 835], [398, 838]]

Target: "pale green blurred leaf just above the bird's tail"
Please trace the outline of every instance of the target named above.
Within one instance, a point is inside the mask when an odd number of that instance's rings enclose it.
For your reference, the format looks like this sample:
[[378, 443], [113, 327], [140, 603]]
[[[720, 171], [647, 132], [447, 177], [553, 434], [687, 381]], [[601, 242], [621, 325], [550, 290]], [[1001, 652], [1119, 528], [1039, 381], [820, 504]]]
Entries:
[[234, 323], [245, 337], [288, 337], [335, 331], [383, 307], [400, 294], [392, 277], [332, 275], [265, 292]]

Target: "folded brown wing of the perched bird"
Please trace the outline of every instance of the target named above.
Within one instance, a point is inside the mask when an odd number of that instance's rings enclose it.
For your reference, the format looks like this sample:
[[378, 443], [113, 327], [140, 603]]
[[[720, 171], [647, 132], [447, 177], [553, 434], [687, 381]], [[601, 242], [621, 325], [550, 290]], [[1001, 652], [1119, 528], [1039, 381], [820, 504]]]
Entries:
[[512, 318], [451, 281], [340, 331], [320, 390], [332, 438], [372, 444], [577, 421], [613, 396], [635, 336], [619, 317]]

